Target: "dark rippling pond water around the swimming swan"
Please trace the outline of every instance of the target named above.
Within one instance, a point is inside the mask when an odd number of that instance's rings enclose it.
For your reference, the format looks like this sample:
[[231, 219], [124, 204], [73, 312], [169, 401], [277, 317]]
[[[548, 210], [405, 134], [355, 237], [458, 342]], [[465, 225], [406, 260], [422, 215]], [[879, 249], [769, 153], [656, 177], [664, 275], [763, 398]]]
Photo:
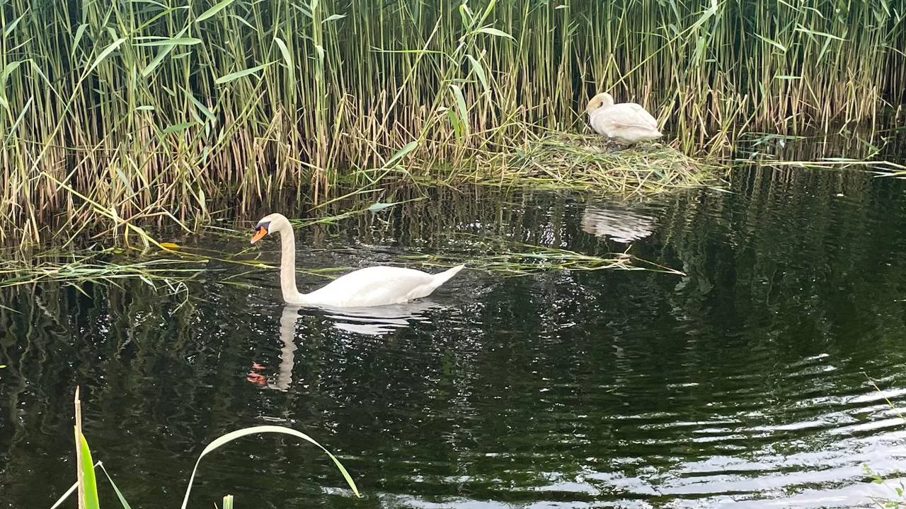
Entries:
[[[188, 297], [140, 281], [7, 290], [0, 507], [49, 507], [72, 484], [76, 385], [95, 458], [132, 507], [178, 507], [209, 441], [263, 424], [337, 452], [365, 498], [314, 447], [265, 436], [208, 456], [190, 506], [225, 494], [246, 508], [488, 509], [895, 495], [863, 464], [906, 467], [906, 427], [867, 379], [902, 405], [904, 183], [738, 168], [728, 189], [634, 205], [437, 191], [302, 233], [306, 267], [476, 252], [463, 233], [626, 249], [609, 234], [688, 274], [467, 270], [381, 320], [286, 309], [275, 271], [235, 264], [212, 263]], [[277, 249], [269, 239], [249, 258], [273, 263]], [[303, 288], [321, 282], [300, 275]], [[102, 504], [119, 506], [101, 485]]]

